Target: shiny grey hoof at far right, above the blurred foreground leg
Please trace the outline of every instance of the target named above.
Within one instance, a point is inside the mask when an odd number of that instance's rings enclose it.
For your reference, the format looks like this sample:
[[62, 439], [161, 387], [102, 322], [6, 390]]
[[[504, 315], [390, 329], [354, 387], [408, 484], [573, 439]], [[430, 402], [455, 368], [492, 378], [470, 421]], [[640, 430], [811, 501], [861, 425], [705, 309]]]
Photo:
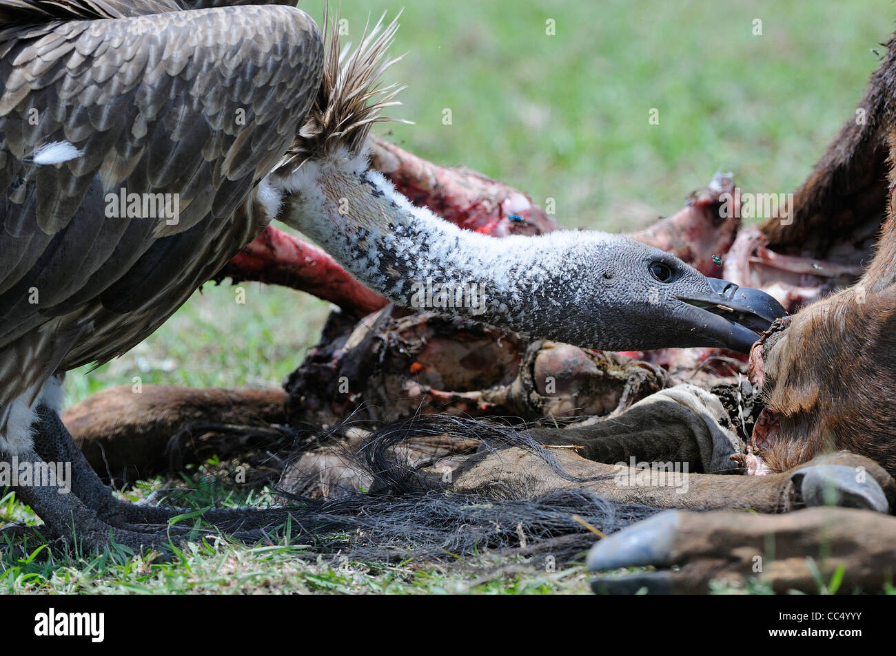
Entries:
[[815, 464], [790, 477], [806, 506], [865, 508], [889, 513], [890, 504], [874, 477], [845, 464]]

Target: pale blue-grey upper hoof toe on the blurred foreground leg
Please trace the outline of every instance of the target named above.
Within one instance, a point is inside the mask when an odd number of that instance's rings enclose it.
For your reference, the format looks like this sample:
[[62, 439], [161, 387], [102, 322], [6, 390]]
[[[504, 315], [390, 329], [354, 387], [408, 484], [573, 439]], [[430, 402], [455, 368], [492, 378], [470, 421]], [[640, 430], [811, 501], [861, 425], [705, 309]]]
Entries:
[[672, 537], [678, 522], [679, 514], [672, 510], [626, 526], [591, 547], [587, 560], [589, 569], [670, 565]]

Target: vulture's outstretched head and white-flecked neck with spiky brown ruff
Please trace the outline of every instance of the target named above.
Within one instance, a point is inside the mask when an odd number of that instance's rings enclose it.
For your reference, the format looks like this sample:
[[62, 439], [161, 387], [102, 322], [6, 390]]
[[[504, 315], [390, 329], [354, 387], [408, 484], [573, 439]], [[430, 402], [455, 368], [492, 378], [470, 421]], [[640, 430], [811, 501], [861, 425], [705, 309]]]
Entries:
[[370, 126], [390, 120], [382, 110], [399, 104], [401, 87], [379, 81], [397, 61], [385, 57], [397, 27], [377, 23], [350, 53], [328, 38], [306, 122], [264, 181], [271, 216], [310, 236], [360, 282], [404, 307], [604, 350], [748, 353], [785, 313], [768, 294], [705, 277], [627, 237], [565, 230], [495, 239], [413, 205], [367, 158]]

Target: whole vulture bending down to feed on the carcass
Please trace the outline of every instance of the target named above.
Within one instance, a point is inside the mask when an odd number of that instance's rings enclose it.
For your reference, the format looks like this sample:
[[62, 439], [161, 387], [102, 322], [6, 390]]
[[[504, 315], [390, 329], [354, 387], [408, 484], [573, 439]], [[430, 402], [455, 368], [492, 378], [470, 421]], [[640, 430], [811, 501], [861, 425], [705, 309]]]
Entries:
[[[476, 287], [452, 312], [533, 337], [745, 353], [783, 314], [621, 236], [495, 240], [414, 207], [366, 154], [399, 90], [379, 84], [397, 23], [342, 53], [289, 4], [0, 0], [0, 464], [72, 464], [68, 494], [16, 487], [50, 534], [177, 536], [159, 524], [180, 510], [120, 501], [90, 469], [62, 380], [149, 336], [274, 218], [394, 302]], [[204, 516], [239, 536], [276, 513]]]

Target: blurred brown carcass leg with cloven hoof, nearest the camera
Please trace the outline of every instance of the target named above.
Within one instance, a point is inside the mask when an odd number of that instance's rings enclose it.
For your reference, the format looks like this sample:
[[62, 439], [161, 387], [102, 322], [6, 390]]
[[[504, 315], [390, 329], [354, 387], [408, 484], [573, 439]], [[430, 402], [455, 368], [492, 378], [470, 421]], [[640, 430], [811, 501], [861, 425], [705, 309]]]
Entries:
[[[774, 592], [880, 592], [893, 577], [896, 517], [856, 508], [814, 507], [784, 515], [726, 510], [668, 510], [599, 541], [591, 570], [654, 566], [656, 571], [601, 575], [599, 593], [705, 593], [715, 581], [745, 588], [751, 581]], [[673, 571], [671, 566], [678, 566]]]

